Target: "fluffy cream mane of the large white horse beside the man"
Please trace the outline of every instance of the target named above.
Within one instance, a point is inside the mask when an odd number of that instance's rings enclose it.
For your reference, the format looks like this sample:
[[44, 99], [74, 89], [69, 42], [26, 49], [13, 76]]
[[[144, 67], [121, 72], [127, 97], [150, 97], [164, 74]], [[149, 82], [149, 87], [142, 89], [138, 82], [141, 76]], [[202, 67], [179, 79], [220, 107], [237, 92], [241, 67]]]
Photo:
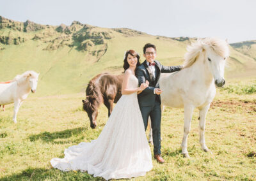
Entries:
[[191, 43], [191, 45], [188, 45], [188, 52], [186, 52], [184, 57], [184, 68], [188, 68], [196, 62], [196, 59], [200, 53], [205, 51], [205, 45], [209, 45], [209, 47], [211, 47], [216, 54], [223, 58], [229, 56], [229, 48], [226, 41], [220, 40], [218, 38], [204, 38], [202, 40], [197, 40], [196, 42]]

